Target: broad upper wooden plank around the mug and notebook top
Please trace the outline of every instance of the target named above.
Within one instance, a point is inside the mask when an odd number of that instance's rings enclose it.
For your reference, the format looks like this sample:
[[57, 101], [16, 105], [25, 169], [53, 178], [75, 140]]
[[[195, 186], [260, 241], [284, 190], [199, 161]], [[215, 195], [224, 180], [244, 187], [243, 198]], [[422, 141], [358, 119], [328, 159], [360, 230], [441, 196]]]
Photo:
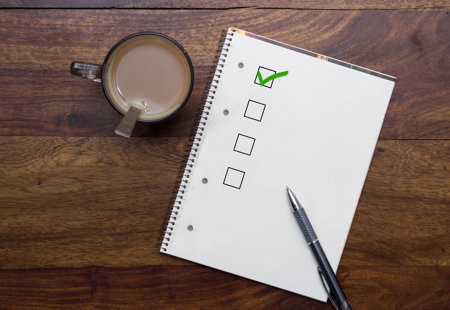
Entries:
[[178, 116], [139, 124], [134, 135], [186, 137], [221, 30], [231, 25], [396, 76], [382, 139], [450, 138], [446, 12], [275, 9], [2, 10], [0, 135], [113, 136], [119, 113], [99, 84], [71, 76], [69, 65], [101, 63], [122, 37], [153, 30], [186, 48], [196, 82]]

